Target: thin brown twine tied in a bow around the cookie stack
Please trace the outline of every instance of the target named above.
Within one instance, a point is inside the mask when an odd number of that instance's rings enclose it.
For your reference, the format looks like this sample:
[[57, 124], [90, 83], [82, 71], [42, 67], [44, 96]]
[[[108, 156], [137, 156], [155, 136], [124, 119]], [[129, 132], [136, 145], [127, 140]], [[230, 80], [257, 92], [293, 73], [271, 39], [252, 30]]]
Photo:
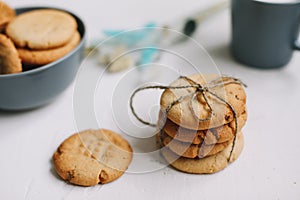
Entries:
[[[228, 102], [226, 101], [224, 98], [220, 97], [219, 95], [215, 94], [214, 92], [212, 92], [212, 89], [213, 88], [216, 88], [216, 87], [220, 87], [220, 86], [225, 86], [225, 85], [228, 85], [228, 84], [239, 84], [239, 85], [242, 85], [244, 87], [247, 87], [247, 85], [245, 83], [243, 83], [240, 79], [238, 78], [234, 78], [234, 77], [230, 77], [230, 76], [220, 76], [206, 84], [200, 84], [200, 83], [197, 83], [195, 81], [193, 81], [192, 79], [186, 77], [186, 76], [180, 76], [179, 79], [184, 79], [186, 80], [189, 85], [183, 85], [183, 86], [164, 86], [164, 85], [154, 85], [154, 86], [145, 86], [145, 87], [140, 87], [138, 89], [136, 89], [131, 97], [130, 97], [130, 109], [131, 109], [131, 112], [133, 113], [133, 115], [135, 116], [135, 118], [140, 121], [141, 123], [145, 124], [145, 125], [148, 125], [148, 126], [152, 126], [152, 127], [156, 127], [157, 125], [156, 124], [153, 124], [151, 122], [148, 122], [148, 121], [145, 121], [144, 119], [142, 119], [141, 117], [138, 116], [138, 114], [135, 112], [135, 109], [133, 107], [133, 99], [135, 97], [135, 95], [143, 90], [149, 90], [149, 89], [160, 89], [160, 90], [166, 90], [166, 89], [175, 89], [175, 90], [178, 90], [178, 89], [188, 89], [188, 88], [193, 88], [195, 89], [193, 92], [190, 92], [188, 93], [187, 95], [184, 95], [184, 96], [180, 96], [178, 99], [176, 99], [175, 101], [173, 101], [170, 105], [167, 106], [166, 110], [163, 111], [164, 113], [164, 116], [167, 116], [168, 112], [172, 109], [173, 106], [175, 106], [176, 104], [179, 104], [181, 103], [184, 99], [186, 98], [190, 98], [189, 100], [189, 108], [190, 110], [192, 111], [194, 117], [199, 121], [199, 122], [206, 122], [206, 121], [210, 121], [212, 119], [212, 116], [214, 114], [214, 111], [212, 109], [212, 106], [211, 104], [209, 103], [208, 99], [207, 99], [207, 93], [214, 96], [215, 98], [217, 98], [219, 101], [223, 102], [224, 104], [226, 104], [230, 110], [232, 111], [233, 113], [233, 117], [234, 117], [234, 120], [235, 120], [235, 133], [234, 133], [234, 139], [233, 139], [233, 142], [232, 142], [232, 148], [231, 148], [231, 151], [230, 151], [230, 154], [229, 154], [229, 158], [228, 158], [228, 161], [230, 161], [231, 159], [231, 156], [232, 156], [232, 153], [233, 153], [233, 150], [234, 150], [234, 147], [235, 147], [235, 143], [236, 143], [236, 138], [237, 138], [237, 133], [238, 133], [238, 116], [237, 116], [237, 113], [235, 111], [235, 109], [233, 108], [233, 106]], [[198, 117], [198, 115], [196, 114], [195, 110], [194, 110], [194, 99], [198, 96], [198, 94], [200, 94], [206, 105], [208, 106], [208, 110], [209, 110], [209, 113], [208, 113], [208, 117], [204, 118], [204, 119], [201, 119]]]

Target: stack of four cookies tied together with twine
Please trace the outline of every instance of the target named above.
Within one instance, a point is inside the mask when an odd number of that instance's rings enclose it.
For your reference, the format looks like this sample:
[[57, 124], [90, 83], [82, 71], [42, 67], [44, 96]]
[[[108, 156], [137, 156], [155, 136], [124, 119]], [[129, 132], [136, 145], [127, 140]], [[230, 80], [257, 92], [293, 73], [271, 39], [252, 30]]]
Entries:
[[242, 84], [230, 77], [195, 74], [170, 86], [161, 96], [158, 122], [165, 160], [180, 171], [207, 174], [237, 159], [247, 120]]

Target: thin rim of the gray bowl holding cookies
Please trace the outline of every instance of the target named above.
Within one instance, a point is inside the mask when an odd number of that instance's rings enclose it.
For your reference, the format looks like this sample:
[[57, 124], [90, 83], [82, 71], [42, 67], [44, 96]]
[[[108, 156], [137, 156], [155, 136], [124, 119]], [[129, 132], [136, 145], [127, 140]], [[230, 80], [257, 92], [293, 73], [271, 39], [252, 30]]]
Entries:
[[86, 27], [85, 27], [85, 23], [84, 21], [75, 13], [66, 10], [64, 8], [59, 8], [59, 7], [52, 7], [52, 6], [24, 6], [24, 7], [16, 7], [14, 8], [15, 11], [20, 10], [20, 9], [28, 9], [28, 10], [37, 10], [37, 9], [55, 9], [55, 10], [61, 10], [61, 11], [65, 11], [69, 14], [71, 14], [72, 16], [74, 16], [75, 18], [77, 18], [83, 25], [83, 34], [81, 35], [81, 40], [78, 43], [78, 45], [69, 53], [67, 53], [66, 55], [64, 55], [63, 57], [48, 63], [46, 65], [42, 65], [36, 69], [31, 69], [25, 72], [20, 72], [20, 73], [15, 73], [15, 74], [0, 74], [0, 79], [2, 78], [14, 78], [14, 77], [19, 77], [19, 76], [26, 76], [26, 75], [31, 75], [31, 74], [35, 74], [35, 73], [39, 73], [41, 71], [47, 70], [49, 68], [51, 68], [52, 66], [56, 65], [57, 63], [60, 63], [61, 61], [65, 60], [66, 58], [70, 57], [71, 55], [74, 54], [74, 52], [78, 51], [79, 48], [81, 48], [82, 45], [84, 45], [85, 40], [86, 40]]

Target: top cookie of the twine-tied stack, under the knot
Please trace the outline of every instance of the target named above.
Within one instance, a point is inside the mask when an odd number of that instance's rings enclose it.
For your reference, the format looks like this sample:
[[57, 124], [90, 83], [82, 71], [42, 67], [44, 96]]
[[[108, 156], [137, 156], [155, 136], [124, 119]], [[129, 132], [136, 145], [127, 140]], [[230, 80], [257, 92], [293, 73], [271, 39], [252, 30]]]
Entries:
[[[202, 76], [201, 74], [189, 76], [191, 80], [201, 85], [205, 85], [217, 77], [218, 75]], [[222, 78], [222, 80], [225, 81], [227, 78]], [[217, 97], [211, 95], [209, 92], [205, 92], [205, 94], [213, 110], [212, 118], [206, 121], [199, 121], [199, 119], [208, 118], [210, 110], [200, 92], [198, 92], [195, 98], [192, 99], [192, 94], [194, 94], [197, 90], [195, 88], [195, 83], [184, 78], [179, 78], [171, 83], [171, 86], [194, 85], [194, 88], [166, 89], [163, 92], [160, 100], [161, 109], [166, 110], [171, 107], [167, 113], [167, 118], [179, 126], [193, 130], [210, 129], [231, 122], [234, 119], [234, 114], [230, 107]], [[237, 116], [240, 116], [244, 112], [246, 94], [242, 85], [237, 83], [228, 83], [226, 85], [219, 85], [217, 87], [210, 88], [209, 90], [218, 97], [226, 100], [234, 108]], [[174, 104], [176, 100], [187, 95], [189, 96], [181, 99], [179, 103]], [[190, 104], [190, 102], [192, 102], [192, 104]]]

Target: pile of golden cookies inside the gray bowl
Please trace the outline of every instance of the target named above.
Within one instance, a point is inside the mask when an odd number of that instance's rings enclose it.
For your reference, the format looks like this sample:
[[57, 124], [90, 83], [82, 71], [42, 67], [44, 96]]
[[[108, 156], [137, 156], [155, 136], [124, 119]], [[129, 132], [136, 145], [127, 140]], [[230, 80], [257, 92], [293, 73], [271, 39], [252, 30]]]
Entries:
[[51, 63], [80, 42], [76, 19], [65, 11], [36, 9], [15, 16], [2, 1], [0, 8], [0, 29], [5, 32], [0, 33], [0, 74]]

